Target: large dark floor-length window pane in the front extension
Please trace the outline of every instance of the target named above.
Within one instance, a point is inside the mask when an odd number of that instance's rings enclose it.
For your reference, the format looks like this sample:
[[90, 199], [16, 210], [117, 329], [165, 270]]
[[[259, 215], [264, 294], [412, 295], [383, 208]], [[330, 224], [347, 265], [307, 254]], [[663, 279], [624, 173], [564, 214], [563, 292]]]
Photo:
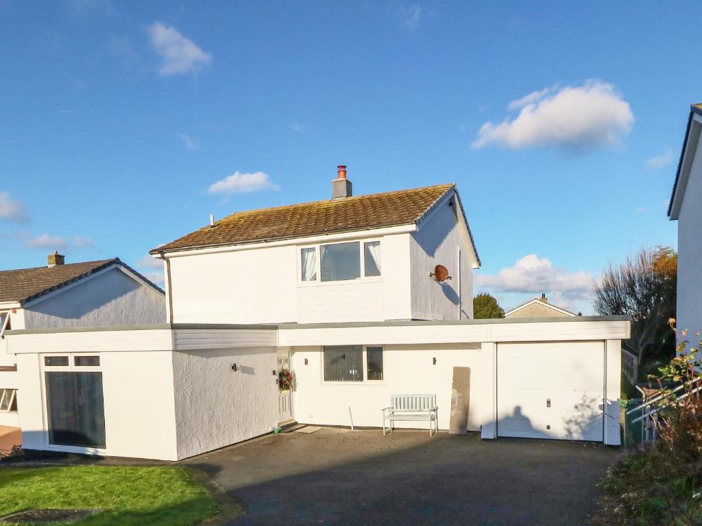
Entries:
[[47, 371], [44, 374], [49, 443], [105, 447], [102, 372]]

